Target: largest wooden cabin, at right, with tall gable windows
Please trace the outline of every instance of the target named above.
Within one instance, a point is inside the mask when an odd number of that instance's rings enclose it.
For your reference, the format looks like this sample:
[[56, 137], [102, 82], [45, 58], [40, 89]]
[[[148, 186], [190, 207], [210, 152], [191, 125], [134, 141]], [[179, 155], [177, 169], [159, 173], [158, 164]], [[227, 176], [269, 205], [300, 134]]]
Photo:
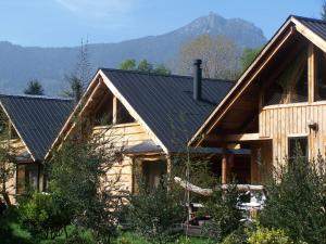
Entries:
[[326, 153], [326, 22], [290, 16], [189, 141], [191, 146], [251, 150], [250, 160], [224, 154], [223, 181], [239, 165], [251, 183], [297, 144], [309, 158]]

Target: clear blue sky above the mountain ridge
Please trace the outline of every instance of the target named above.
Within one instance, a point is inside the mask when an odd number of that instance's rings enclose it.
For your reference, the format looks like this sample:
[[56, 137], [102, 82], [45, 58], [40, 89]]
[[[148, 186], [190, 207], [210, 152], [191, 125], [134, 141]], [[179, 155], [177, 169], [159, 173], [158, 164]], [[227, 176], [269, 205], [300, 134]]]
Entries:
[[72, 47], [161, 35], [214, 12], [267, 39], [290, 15], [319, 17], [323, 0], [0, 0], [0, 41]]

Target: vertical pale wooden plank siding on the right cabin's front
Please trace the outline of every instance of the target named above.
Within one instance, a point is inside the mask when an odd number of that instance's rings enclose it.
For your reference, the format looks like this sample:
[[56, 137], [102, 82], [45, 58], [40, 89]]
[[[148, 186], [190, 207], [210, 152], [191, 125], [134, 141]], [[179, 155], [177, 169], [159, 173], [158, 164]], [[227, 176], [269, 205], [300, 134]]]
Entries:
[[[318, 125], [317, 131], [309, 129], [309, 121]], [[267, 106], [260, 113], [260, 137], [273, 139], [273, 158], [283, 160], [288, 154], [289, 137], [308, 137], [309, 156], [318, 151], [325, 155], [326, 103], [302, 103]]]

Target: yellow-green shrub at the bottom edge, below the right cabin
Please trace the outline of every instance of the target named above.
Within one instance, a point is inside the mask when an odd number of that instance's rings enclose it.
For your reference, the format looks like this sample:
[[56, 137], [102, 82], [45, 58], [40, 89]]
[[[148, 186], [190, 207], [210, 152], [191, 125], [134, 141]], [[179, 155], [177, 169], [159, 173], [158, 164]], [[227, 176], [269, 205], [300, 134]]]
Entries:
[[249, 244], [293, 244], [284, 230], [267, 229], [259, 227], [255, 231], [249, 233]]

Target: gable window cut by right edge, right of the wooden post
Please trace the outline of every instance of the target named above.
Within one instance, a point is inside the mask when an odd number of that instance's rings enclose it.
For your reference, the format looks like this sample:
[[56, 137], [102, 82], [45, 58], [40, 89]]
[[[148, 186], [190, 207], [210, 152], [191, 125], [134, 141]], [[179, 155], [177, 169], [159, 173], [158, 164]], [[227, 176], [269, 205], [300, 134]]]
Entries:
[[315, 47], [315, 101], [326, 100], [326, 53]]

